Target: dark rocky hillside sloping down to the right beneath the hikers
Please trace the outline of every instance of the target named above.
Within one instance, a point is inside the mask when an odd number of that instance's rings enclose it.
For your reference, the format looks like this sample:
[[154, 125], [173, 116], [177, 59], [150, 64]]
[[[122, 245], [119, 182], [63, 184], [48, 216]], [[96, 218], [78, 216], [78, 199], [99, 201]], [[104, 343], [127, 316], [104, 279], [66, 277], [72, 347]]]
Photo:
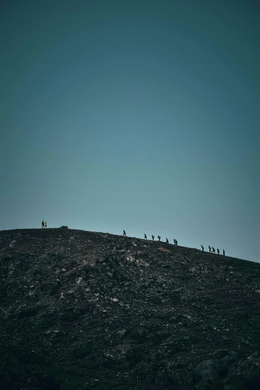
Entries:
[[260, 263], [1, 231], [0, 299], [0, 389], [260, 389]]

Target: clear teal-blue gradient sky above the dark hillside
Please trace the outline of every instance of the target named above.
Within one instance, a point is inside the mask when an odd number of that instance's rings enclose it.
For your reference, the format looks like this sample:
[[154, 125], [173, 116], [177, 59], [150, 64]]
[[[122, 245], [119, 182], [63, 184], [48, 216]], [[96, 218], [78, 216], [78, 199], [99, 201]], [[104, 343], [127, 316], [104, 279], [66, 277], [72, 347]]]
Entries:
[[2, 0], [0, 230], [260, 261], [258, 0]]

